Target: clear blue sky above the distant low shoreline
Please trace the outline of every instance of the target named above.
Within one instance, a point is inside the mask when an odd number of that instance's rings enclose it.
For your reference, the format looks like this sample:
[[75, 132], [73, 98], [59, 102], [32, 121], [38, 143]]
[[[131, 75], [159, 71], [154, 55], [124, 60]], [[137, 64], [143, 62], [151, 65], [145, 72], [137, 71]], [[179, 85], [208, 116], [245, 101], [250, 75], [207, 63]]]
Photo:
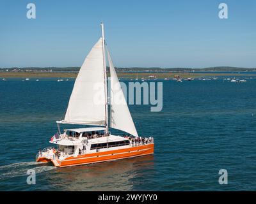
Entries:
[[[36, 19], [26, 18], [28, 3]], [[118, 67], [256, 67], [253, 0], [0, 0], [0, 68], [81, 66], [101, 20]]]

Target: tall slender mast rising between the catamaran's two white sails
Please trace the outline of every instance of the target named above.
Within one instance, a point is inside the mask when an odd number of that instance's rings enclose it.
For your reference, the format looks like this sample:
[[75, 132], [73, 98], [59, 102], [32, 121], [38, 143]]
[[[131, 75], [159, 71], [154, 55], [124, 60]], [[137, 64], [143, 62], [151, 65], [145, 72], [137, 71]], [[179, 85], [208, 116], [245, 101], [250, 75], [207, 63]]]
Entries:
[[108, 134], [108, 84], [107, 84], [107, 68], [106, 68], [106, 56], [105, 56], [105, 36], [104, 36], [104, 24], [101, 22], [102, 32], [102, 52], [103, 52], [103, 65], [104, 65], [104, 89], [105, 89], [105, 119], [106, 119], [106, 133]]

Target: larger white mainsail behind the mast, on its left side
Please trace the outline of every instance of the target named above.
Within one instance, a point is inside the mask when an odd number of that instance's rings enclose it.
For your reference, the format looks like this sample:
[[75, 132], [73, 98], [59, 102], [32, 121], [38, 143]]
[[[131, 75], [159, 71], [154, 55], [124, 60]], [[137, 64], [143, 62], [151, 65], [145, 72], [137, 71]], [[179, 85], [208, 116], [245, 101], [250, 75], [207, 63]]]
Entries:
[[93, 46], [79, 70], [65, 119], [70, 124], [106, 124], [102, 38]]

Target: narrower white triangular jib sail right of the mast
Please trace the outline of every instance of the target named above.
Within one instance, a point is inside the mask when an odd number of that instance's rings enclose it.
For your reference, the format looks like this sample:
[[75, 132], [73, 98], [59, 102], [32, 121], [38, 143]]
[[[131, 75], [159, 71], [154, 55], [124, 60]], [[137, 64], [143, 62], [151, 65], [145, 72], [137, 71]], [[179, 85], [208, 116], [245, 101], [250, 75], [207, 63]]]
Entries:
[[[108, 52], [108, 49], [107, 49]], [[125, 101], [124, 92], [122, 91], [121, 85], [118, 81], [113, 62], [108, 52], [108, 62], [110, 69], [110, 127], [120, 129], [131, 135], [138, 136], [136, 128], [134, 126], [131, 113]]]

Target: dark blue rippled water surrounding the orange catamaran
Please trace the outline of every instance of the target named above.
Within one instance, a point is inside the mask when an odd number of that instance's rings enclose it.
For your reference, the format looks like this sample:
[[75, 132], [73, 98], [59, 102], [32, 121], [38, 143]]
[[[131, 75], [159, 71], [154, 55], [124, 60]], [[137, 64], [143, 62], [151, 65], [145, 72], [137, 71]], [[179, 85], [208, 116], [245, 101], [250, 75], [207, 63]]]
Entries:
[[[223, 78], [154, 80], [163, 82], [163, 110], [129, 106], [139, 135], [154, 136], [154, 155], [68, 168], [35, 156], [51, 147], [74, 80], [0, 80], [0, 191], [255, 191], [256, 77]], [[26, 182], [29, 169], [35, 185]]]

